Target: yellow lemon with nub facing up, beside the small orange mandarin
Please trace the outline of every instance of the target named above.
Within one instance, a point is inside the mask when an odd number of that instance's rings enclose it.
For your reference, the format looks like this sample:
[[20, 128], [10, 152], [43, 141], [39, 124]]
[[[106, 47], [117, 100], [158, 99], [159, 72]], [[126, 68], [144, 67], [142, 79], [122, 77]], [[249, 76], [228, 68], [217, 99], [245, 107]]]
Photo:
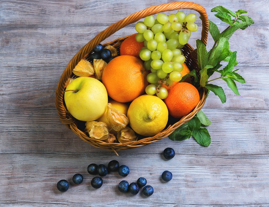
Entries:
[[153, 136], [166, 127], [168, 110], [162, 99], [145, 94], [132, 101], [127, 117], [137, 134]]

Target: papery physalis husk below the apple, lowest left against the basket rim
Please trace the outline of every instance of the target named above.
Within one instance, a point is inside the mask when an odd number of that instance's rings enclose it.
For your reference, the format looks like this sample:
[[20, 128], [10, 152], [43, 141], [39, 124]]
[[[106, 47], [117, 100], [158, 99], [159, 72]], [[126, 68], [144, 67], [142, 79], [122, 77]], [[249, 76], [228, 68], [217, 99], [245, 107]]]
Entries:
[[109, 138], [108, 128], [105, 122], [89, 121], [85, 123], [85, 132], [91, 138], [105, 140]]

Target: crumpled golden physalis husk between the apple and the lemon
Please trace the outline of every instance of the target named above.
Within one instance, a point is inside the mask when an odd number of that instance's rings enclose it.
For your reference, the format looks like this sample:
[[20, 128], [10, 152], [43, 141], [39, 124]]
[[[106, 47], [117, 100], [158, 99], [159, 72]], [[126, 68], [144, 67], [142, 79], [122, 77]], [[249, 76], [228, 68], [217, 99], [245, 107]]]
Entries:
[[115, 131], [120, 131], [129, 124], [128, 117], [112, 107], [111, 103], [107, 104], [106, 118]]

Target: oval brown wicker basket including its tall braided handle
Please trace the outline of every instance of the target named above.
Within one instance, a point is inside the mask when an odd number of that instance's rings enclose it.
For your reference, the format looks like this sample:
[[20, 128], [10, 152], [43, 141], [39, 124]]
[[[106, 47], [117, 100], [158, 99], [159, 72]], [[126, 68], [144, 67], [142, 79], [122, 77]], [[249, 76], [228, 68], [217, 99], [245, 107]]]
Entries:
[[[127, 16], [126, 18], [110, 25], [106, 30], [103, 30], [100, 32], [94, 39], [92, 39], [90, 42], [88, 42], [84, 47], [82, 47], [79, 52], [71, 59], [71, 61], [68, 63], [67, 67], [65, 68], [64, 72], [62, 73], [62, 76], [59, 80], [57, 89], [56, 89], [56, 108], [57, 112], [59, 114], [59, 118], [62, 123], [64, 123], [69, 129], [71, 129], [75, 134], [77, 134], [81, 139], [83, 139], [85, 142], [88, 142], [89, 144], [97, 147], [97, 148], [103, 148], [107, 150], [112, 150], [117, 154], [117, 150], [122, 149], [129, 149], [129, 148], [136, 148], [144, 145], [148, 145], [152, 142], [156, 142], [159, 139], [162, 139], [164, 137], [167, 137], [169, 134], [171, 134], [176, 128], [178, 128], [180, 125], [184, 124], [185, 122], [192, 119], [195, 114], [201, 110], [205, 103], [207, 90], [205, 88], [199, 88], [200, 93], [200, 101], [198, 105], [193, 109], [192, 112], [190, 112], [188, 115], [182, 117], [180, 120], [172, 120], [167, 126], [166, 129], [159, 132], [153, 137], [146, 137], [142, 139], [138, 139], [137, 141], [128, 142], [128, 143], [106, 143], [100, 140], [93, 139], [91, 137], [88, 137], [87, 134], [85, 134], [84, 131], [80, 130], [79, 128], [79, 122], [78, 120], [74, 119], [73, 116], [67, 111], [64, 102], [63, 102], [63, 96], [64, 96], [64, 90], [65, 90], [65, 84], [68, 80], [68, 78], [72, 75], [72, 70], [75, 68], [77, 63], [83, 59], [86, 58], [88, 54], [92, 53], [93, 48], [98, 45], [100, 42], [105, 40], [108, 36], [115, 33], [117, 30], [125, 27], [128, 24], [135, 23], [139, 21], [140, 19], [157, 14], [160, 12], [165, 11], [172, 11], [172, 10], [179, 10], [179, 9], [192, 9], [197, 11], [201, 16], [202, 21], [202, 32], [201, 32], [201, 41], [204, 42], [204, 44], [207, 43], [207, 35], [208, 35], [208, 19], [207, 19], [207, 13], [205, 9], [196, 3], [192, 2], [172, 2], [167, 4], [161, 4], [158, 6], [152, 6], [148, 7], [144, 10], [138, 11], [136, 13], [133, 13], [132, 15]], [[112, 42], [108, 42], [104, 45], [113, 45], [117, 49], [120, 48], [120, 44], [123, 42], [124, 39], [126, 39], [128, 36], [123, 38], [118, 38]], [[186, 65], [191, 68], [195, 69], [199, 75], [199, 69], [197, 66], [197, 53], [196, 50], [194, 50], [193, 47], [191, 47], [189, 44], [186, 44], [184, 48], [182, 49], [184, 56], [186, 57]], [[118, 155], [118, 154], [117, 154]]]

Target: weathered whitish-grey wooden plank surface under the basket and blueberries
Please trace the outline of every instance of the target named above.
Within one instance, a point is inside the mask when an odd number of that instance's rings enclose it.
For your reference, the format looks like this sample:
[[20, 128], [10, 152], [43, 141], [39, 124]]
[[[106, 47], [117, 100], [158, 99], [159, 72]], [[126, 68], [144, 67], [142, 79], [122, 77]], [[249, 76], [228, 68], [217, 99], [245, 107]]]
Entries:
[[[88, 145], [60, 122], [55, 90], [74, 54], [110, 24], [167, 2], [172, 1], [0, 1], [0, 206], [269, 206], [268, 0], [197, 1], [222, 29], [225, 24], [210, 12], [218, 5], [247, 10], [255, 22], [230, 39], [246, 79], [237, 84], [241, 96], [219, 81], [227, 102], [210, 93], [204, 105], [212, 121], [209, 147], [192, 138], [164, 138], [117, 157]], [[135, 33], [134, 25], [103, 42]], [[198, 38], [200, 32], [190, 44]], [[166, 147], [175, 149], [172, 160], [161, 155]], [[125, 180], [146, 177], [154, 194], [120, 193], [123, 178], [116, 173], [104, 177], [102, 188], [92, 188], [87, 166], [114, 159], [130, 167]], [[164, 170], [173, 173], [169, 183], [160, 179]], [[72, 184], [75, 173], [84, 176], [82, 184]], [[61, 179], [71, 181], [65, 193], [56, 188]]]

